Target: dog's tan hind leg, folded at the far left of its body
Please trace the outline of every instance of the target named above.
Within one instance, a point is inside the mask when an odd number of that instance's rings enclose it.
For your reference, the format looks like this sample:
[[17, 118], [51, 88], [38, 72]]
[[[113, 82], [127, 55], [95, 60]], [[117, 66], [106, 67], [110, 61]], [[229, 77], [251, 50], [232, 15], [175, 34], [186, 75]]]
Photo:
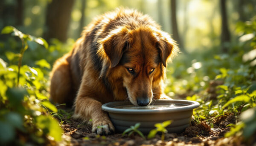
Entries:
[[55, 103], [72, 103], [69, 59], [70, 54], [66, 54], [56, 60], [50, 74], [50, 98]]

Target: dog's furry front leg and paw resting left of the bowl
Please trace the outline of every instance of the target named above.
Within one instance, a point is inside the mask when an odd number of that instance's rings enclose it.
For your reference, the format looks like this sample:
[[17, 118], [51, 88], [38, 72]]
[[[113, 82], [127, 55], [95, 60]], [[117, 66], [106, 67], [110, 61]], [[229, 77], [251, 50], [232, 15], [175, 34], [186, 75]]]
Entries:
[[108, 114], [102, 111], [100, 103], [90, 97], [76, 97], [75, 101], [75, 115], [74, 117], [82, 118], [85, 121], [92, 120], [92, 132], [99, 135], [108, 135], [114, 132], [115, 128], [108, 117]]

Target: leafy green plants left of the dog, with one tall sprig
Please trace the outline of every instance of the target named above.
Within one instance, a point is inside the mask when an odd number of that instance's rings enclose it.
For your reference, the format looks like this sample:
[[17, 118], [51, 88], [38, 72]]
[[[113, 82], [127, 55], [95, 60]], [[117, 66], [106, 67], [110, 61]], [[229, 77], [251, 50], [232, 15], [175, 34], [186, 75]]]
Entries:
[[[23, 34], [12, 26], [2, 30], [2, 34], [7, 33], [20, 37], [23, 46], [19, 54], [5, 53], [11, 65], [0, 58], [0, 144], [33, 142], [38, 145], [48, 140], [59, 141], [63, 131], [48, 111], [58, 112], [48, 100], [47, 78], [44, 74], [47, 71], [44, 67], [49, 68], [49, 63], [46, 60], [38, 61], [40, 68], [21, 65], [28, 41], [35, 41], [45, 47], [48, 44], [42, 38]], [[14, 65], [17, 61], [18, 65]]]

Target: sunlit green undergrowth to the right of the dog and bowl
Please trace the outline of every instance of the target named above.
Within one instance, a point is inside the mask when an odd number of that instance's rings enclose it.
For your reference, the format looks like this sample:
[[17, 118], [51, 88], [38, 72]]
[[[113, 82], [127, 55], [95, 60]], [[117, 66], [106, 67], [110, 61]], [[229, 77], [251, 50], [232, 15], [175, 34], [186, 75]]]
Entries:
[[[189, 57], [174, 61], [167, 72], [171, 80], [166, 93], [198, 101], [200, 106], [193, 113], [196, 123], [206, 121], [213, 128], [217, 117], [235, 115], [236, 124], [229, 125], [230, 132], [225, 136], [243, 135], [249, 139], [256, 133], [256, 17], [237, 23], [236, 31], [239, 41], [229, 46], [228, 54], [207, 51], [200, 57], [192, 54], [191, 63]], [[201, 63], [201, 68], [196, 63]], [[180, 70], [185, 72], [180, 74]], [[245, 116], [249, 114], [250, 118]]]

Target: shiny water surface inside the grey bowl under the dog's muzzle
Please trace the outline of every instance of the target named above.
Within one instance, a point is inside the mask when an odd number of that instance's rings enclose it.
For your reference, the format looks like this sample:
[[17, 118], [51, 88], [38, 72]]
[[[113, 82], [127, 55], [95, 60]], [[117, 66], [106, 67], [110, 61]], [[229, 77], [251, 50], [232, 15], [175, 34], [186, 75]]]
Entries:
[[149, 106], [134, 106], [134, 105], [122, 105], [115, 106], [116, 109], [173, 109], [176, 107], [185, 106], [183, 104], [158, 104], [158, 105], [149, 105]]

